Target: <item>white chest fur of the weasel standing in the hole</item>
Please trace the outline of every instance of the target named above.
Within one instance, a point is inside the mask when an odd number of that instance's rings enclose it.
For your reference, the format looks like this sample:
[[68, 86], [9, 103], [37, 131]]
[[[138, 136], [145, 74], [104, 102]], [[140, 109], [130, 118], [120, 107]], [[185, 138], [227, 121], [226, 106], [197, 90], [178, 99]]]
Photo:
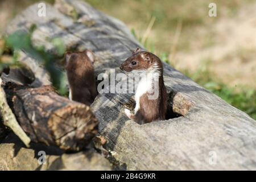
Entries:
[[152, 89], [152, 85], [154, 84], [155, 80], [159, 79], [159, 72], [157, 70], [152, 70], [150, 72], [144, 73], [143, 76], [141, 77], [141, 80], [139, 81], [136, 93], [135, 93], [135, 102], [136, 106], [134, 109], [134, 112], [137, 113], [139, 110], [139, 100], [143, 94], [146, 92], [150, 92]]

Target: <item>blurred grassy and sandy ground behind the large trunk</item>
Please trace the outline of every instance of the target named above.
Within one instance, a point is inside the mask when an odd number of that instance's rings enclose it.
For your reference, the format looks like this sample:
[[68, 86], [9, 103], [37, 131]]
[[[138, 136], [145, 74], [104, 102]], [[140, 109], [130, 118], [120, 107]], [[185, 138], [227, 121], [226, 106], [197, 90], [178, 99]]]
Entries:
[[[35, 2], [1, 0], [0, 34]], [[255, 0], [86, 2], [125, 22], [149, 51], [256, 119]], [[208, 15], [211, 2], [217, 17]]]

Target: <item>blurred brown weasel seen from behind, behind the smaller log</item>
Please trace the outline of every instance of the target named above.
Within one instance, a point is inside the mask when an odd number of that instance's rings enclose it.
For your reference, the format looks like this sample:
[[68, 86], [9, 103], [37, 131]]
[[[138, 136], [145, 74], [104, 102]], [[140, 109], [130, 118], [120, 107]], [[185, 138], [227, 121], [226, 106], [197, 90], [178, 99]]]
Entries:
[[65, 70], [69, 83], [69, 99], [90, 105], [97, 96], [92, 51], [65, 53]]

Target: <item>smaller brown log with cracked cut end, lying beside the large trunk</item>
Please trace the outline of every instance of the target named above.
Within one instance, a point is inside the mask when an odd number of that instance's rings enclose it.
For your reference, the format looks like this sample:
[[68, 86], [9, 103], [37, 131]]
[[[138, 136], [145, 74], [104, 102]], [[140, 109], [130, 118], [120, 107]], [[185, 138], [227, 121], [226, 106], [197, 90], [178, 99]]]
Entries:
[[80, 151], [97, 133], [89, 106], [59, 96], [52, 86], [27, 88], [7, 83], [9, 105], [33, 142]]

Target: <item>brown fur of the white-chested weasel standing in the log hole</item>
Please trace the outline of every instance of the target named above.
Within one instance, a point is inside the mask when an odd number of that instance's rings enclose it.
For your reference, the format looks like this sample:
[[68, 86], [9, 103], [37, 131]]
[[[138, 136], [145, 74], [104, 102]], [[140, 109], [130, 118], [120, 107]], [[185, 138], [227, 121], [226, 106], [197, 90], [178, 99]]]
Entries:
[[[136, 61], [137, 64], [131, 64], [133, 61]], [[121, 65], [120, 69], [126, 72], [150, 69], [157, 69], [159, 71], [159, 97], [156, 100], [150, 100], [148, 99], [150, 93], [144, 93], [139, 98], [139, 110], [135, 115], [131, 115], [131, 119], [134, 119], [140, 124], [164, 120], [167, 112], [167, 92], [166, 86], [164, 86], [163, 65], [160, 59], [150, 52], [136, 49], [136, 51], [133, 52], [133, 55]]]

